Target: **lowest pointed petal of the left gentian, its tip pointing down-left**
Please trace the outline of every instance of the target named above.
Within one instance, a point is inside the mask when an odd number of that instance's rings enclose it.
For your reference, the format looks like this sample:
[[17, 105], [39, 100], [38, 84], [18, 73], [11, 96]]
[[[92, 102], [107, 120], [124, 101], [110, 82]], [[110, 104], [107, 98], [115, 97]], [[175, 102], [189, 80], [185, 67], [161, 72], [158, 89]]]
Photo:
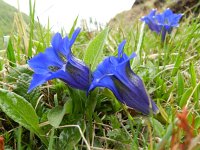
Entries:
[[45, 83], [47, 81], [47, 78], [50, 75], [51, 75], [50, 73], [48, 73], [48, 74], [33, 74], [33, 78], [31, 80], [31, 84], [29, 86], [28, 93], [31, 92], [37, 86]]

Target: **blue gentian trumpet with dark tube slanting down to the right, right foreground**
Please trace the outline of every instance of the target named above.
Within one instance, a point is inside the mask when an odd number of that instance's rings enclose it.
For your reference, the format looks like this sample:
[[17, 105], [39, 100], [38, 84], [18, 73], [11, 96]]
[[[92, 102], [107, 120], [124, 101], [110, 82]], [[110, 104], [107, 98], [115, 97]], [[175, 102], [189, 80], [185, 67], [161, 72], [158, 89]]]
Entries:
[[130, 68], [130, 59], [124, 52], [125, 41], [118, 47], [118, 56], [107, 57], [93, 73], [89, 91], [96, 87], [110, 89], [116, 98], [127, 106], [147, 115], [157, 113], [156, 104], [148, 96], [143, 81]]

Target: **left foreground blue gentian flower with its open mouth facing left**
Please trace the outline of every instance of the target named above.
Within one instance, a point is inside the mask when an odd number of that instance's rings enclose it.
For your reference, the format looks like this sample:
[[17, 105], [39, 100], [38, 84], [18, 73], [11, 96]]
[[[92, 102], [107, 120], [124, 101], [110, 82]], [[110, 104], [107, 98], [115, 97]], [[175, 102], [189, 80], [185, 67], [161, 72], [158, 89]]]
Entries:
[[71, 37], [62, 38], [56, 33], [51, 47], [28, 61], [34, 74], [28, 92], [51, 79], [61, 79], [69, 86], [81, 90], [89, 88], [89, 68], [73, 56], [71, 47], [80, 32], [76, 29]]

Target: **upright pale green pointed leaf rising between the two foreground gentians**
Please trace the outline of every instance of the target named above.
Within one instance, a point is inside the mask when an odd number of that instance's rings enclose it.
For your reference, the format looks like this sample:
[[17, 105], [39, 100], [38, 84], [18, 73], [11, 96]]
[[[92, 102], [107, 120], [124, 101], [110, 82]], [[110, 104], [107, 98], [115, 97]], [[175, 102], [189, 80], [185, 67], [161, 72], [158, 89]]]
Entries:
[[99, 33], [93, 41], [90, 42], [84, 56], [84, 62], [91, 67], [93, 71], [97, 64], [101, 61], [103, 54], [103, 46], [108, 36], [109, 28]]

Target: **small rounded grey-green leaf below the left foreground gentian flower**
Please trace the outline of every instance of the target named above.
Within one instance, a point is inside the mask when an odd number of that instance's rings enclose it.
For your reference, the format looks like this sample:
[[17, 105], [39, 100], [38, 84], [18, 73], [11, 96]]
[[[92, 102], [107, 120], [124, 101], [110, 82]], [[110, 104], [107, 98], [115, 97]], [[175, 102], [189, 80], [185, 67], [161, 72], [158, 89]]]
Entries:
[[57, 128], [62, 122], [66, 112], [66, 104], [67, 103], [65, 103], [64, 107], [56, 106], [48, 113], [47, 118], [53, 127]]

